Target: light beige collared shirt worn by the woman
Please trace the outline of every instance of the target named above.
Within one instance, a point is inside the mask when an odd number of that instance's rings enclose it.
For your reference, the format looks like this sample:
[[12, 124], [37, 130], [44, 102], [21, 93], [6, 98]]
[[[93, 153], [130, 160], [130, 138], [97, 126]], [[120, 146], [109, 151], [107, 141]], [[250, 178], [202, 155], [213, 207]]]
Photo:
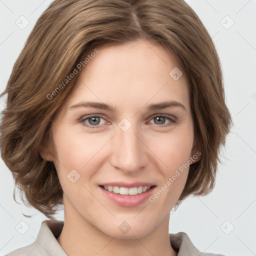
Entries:
[[[6, 256], [67, 256], [57, 241], [63, 228], [63, 221], [44, 220], [36, 240], [31, 244], [13, 250]], [[201, 253], [184, 232], [169, 234], [171, 247], [178, 251], [177, 256], [223, 256], [221, 254]]]

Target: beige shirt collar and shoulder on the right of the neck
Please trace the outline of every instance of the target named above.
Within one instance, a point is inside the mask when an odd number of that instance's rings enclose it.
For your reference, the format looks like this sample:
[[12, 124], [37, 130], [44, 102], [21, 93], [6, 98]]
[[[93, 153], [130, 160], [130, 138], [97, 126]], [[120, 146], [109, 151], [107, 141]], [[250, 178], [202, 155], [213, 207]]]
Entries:
[[175, 250], [178, 251], [177, 256], [224, 256], [222, 254], [214, 254], [214, 253], [205, 253], [199, 251], [188, 235], [185, 232], [178, 232], [176, 234], [170, 233], [169, 234], [169, 239], [170, 239], [170, 244], [171, 247]]

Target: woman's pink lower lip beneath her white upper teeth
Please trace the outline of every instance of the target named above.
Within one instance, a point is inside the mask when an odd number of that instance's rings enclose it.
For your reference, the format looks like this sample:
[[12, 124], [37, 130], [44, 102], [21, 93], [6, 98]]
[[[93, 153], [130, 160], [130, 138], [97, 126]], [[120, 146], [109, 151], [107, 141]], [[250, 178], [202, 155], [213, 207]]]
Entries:
[[148, 199], [148, 197], [152, 194], [155, 186], [151, 187], [146, 192], [136, 194], [136, 195], [117, 194], [117, 193], [109, 192], [102, 187], [99, 187], [99, 188], [107, 198], [109, 198], [111, 201], [115, 202], [116, 204], [120, 206], [125, 206], [125, 207], [134, 207], [141, 204], [146, 199]]

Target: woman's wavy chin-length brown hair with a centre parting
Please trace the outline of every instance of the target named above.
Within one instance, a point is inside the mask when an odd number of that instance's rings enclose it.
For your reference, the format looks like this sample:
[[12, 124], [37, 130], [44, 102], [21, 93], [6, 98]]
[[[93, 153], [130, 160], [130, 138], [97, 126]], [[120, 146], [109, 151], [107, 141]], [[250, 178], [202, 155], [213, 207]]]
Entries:
[[67, 75], [98, 47], [137, 39], [172, 53], [188, 81], [194, 143], [201, 155], [190, 164], [177, 203], [212, 190], [231, 117], [217, 52], [191, 7], [183, 0], [55, 0], [38, 18], [1, 94], [7, 93], [7, 101], [0, 149], [15, 180], [14, 200], [18, 188], [25, 205], [55, 219], [63, 191], [53, 162], [42, 159], [39, 149], [52, 142], [54, 114], [78, 76], [67, 81]]

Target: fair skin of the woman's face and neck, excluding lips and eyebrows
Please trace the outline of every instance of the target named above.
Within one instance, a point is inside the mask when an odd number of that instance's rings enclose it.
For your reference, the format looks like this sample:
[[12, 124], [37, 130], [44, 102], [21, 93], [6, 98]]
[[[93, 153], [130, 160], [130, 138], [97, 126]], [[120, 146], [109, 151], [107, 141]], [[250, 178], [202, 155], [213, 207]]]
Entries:
[[[154, 183], [156, 192], [196, 151], [187, 80], [184, 73], [176, 81], [169, 75], [175, 66], [173, 56], [150, 41], [104, 46], [59, 108], [51, 127], [55, 154], [42, 150], [41, 156], [54, 162], [63, 188], [64, 226], [57, 241], [68, 255], [176, 255], [169, 212], [188, 169], [154, 202], [134, 207], [115, 204], [99, 188], [103, 182], [144, 181]], [[147, 109], [173, 100], [185, 109]], [[115, 112], [71, 107], [81, 101], [103, 102]], [[91, 114], [102, 117], [94, 126], [85, 119]], [[161, 114], [174, 121], [153, 118]], [[126, 131], [118, 126], [123, 118], [131, 124]], [[67, 178], [72, 169], [80, 175], [74, 183]], [[118, 228], [123, 221], [130, 226], [125, 234]]]

